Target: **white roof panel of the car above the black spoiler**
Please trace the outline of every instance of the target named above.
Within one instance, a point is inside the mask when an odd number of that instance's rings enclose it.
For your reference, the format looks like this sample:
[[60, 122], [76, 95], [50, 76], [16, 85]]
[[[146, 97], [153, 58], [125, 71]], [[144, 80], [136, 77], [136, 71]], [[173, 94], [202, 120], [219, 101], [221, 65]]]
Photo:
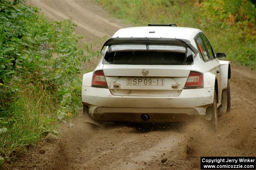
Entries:
[[[155, 31], [155, 32], [154, 32]], [[154, 32], [154, 33], [149, 33]], [[178, 26], [138, 26], [119, 29], [112, 38], [176, 38], [176, 39], [192, 39], [199, 33], [200, 29]]]

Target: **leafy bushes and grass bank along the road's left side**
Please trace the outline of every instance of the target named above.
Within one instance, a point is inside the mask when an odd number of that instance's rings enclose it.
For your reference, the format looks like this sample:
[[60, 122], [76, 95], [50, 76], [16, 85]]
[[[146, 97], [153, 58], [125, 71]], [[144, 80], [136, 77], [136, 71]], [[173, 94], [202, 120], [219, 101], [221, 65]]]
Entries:
[[[33, 142], [58, 133], [81, 107], [81, 62], [71, 20], [50, 21], [22, 1], [0, 1], [0, 166]], [[85, 52], [84, 52], [85, 51]], [[86, 53], [86, 55], [84, 54]]]

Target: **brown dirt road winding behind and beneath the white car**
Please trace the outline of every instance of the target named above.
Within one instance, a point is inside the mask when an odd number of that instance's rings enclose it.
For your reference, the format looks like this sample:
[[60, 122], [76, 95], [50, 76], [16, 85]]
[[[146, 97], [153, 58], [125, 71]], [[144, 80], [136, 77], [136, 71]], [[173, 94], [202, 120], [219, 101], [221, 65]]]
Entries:
[[[91, 1], [29, 1], [49, 18], [72, 18], [82, 42], [111, 36], [120, 21]], [[85, 65], [93, 69], [97, 59]], [[199, 169], [200, 156], [255, 156], [256, 73], [232, 63], [231, 113], [220, 116], [218, 131], [203, 121], [176, 125], [120, 124], [98, 128], [83, 117], [61, 124], [56, 144], [40, 142], [10, 169]], [[39, 149], [45, 150], [44, 154]], [[161, 163], [167, 158], [165, 163]]]

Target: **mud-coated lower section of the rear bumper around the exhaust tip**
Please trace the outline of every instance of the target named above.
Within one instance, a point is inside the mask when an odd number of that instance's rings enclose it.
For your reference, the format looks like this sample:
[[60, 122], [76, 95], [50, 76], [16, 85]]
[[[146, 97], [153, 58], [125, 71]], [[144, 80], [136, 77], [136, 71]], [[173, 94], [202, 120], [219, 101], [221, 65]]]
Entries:
[[90, 116], [97, 121], [145, 122], [142, 114], [147, 114], [146, 122], [187, 122], [198, 114], [193, 108], [130, 108], [97, 107]]

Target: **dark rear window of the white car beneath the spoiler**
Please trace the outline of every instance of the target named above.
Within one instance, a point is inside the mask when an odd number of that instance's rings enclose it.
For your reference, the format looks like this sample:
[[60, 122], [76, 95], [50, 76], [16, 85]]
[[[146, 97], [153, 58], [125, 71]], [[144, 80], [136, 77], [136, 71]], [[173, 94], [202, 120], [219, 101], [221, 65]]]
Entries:
[[103, 64], [191, 65], [186, 48], [157, 45], [113, 45], [108, 48]]

